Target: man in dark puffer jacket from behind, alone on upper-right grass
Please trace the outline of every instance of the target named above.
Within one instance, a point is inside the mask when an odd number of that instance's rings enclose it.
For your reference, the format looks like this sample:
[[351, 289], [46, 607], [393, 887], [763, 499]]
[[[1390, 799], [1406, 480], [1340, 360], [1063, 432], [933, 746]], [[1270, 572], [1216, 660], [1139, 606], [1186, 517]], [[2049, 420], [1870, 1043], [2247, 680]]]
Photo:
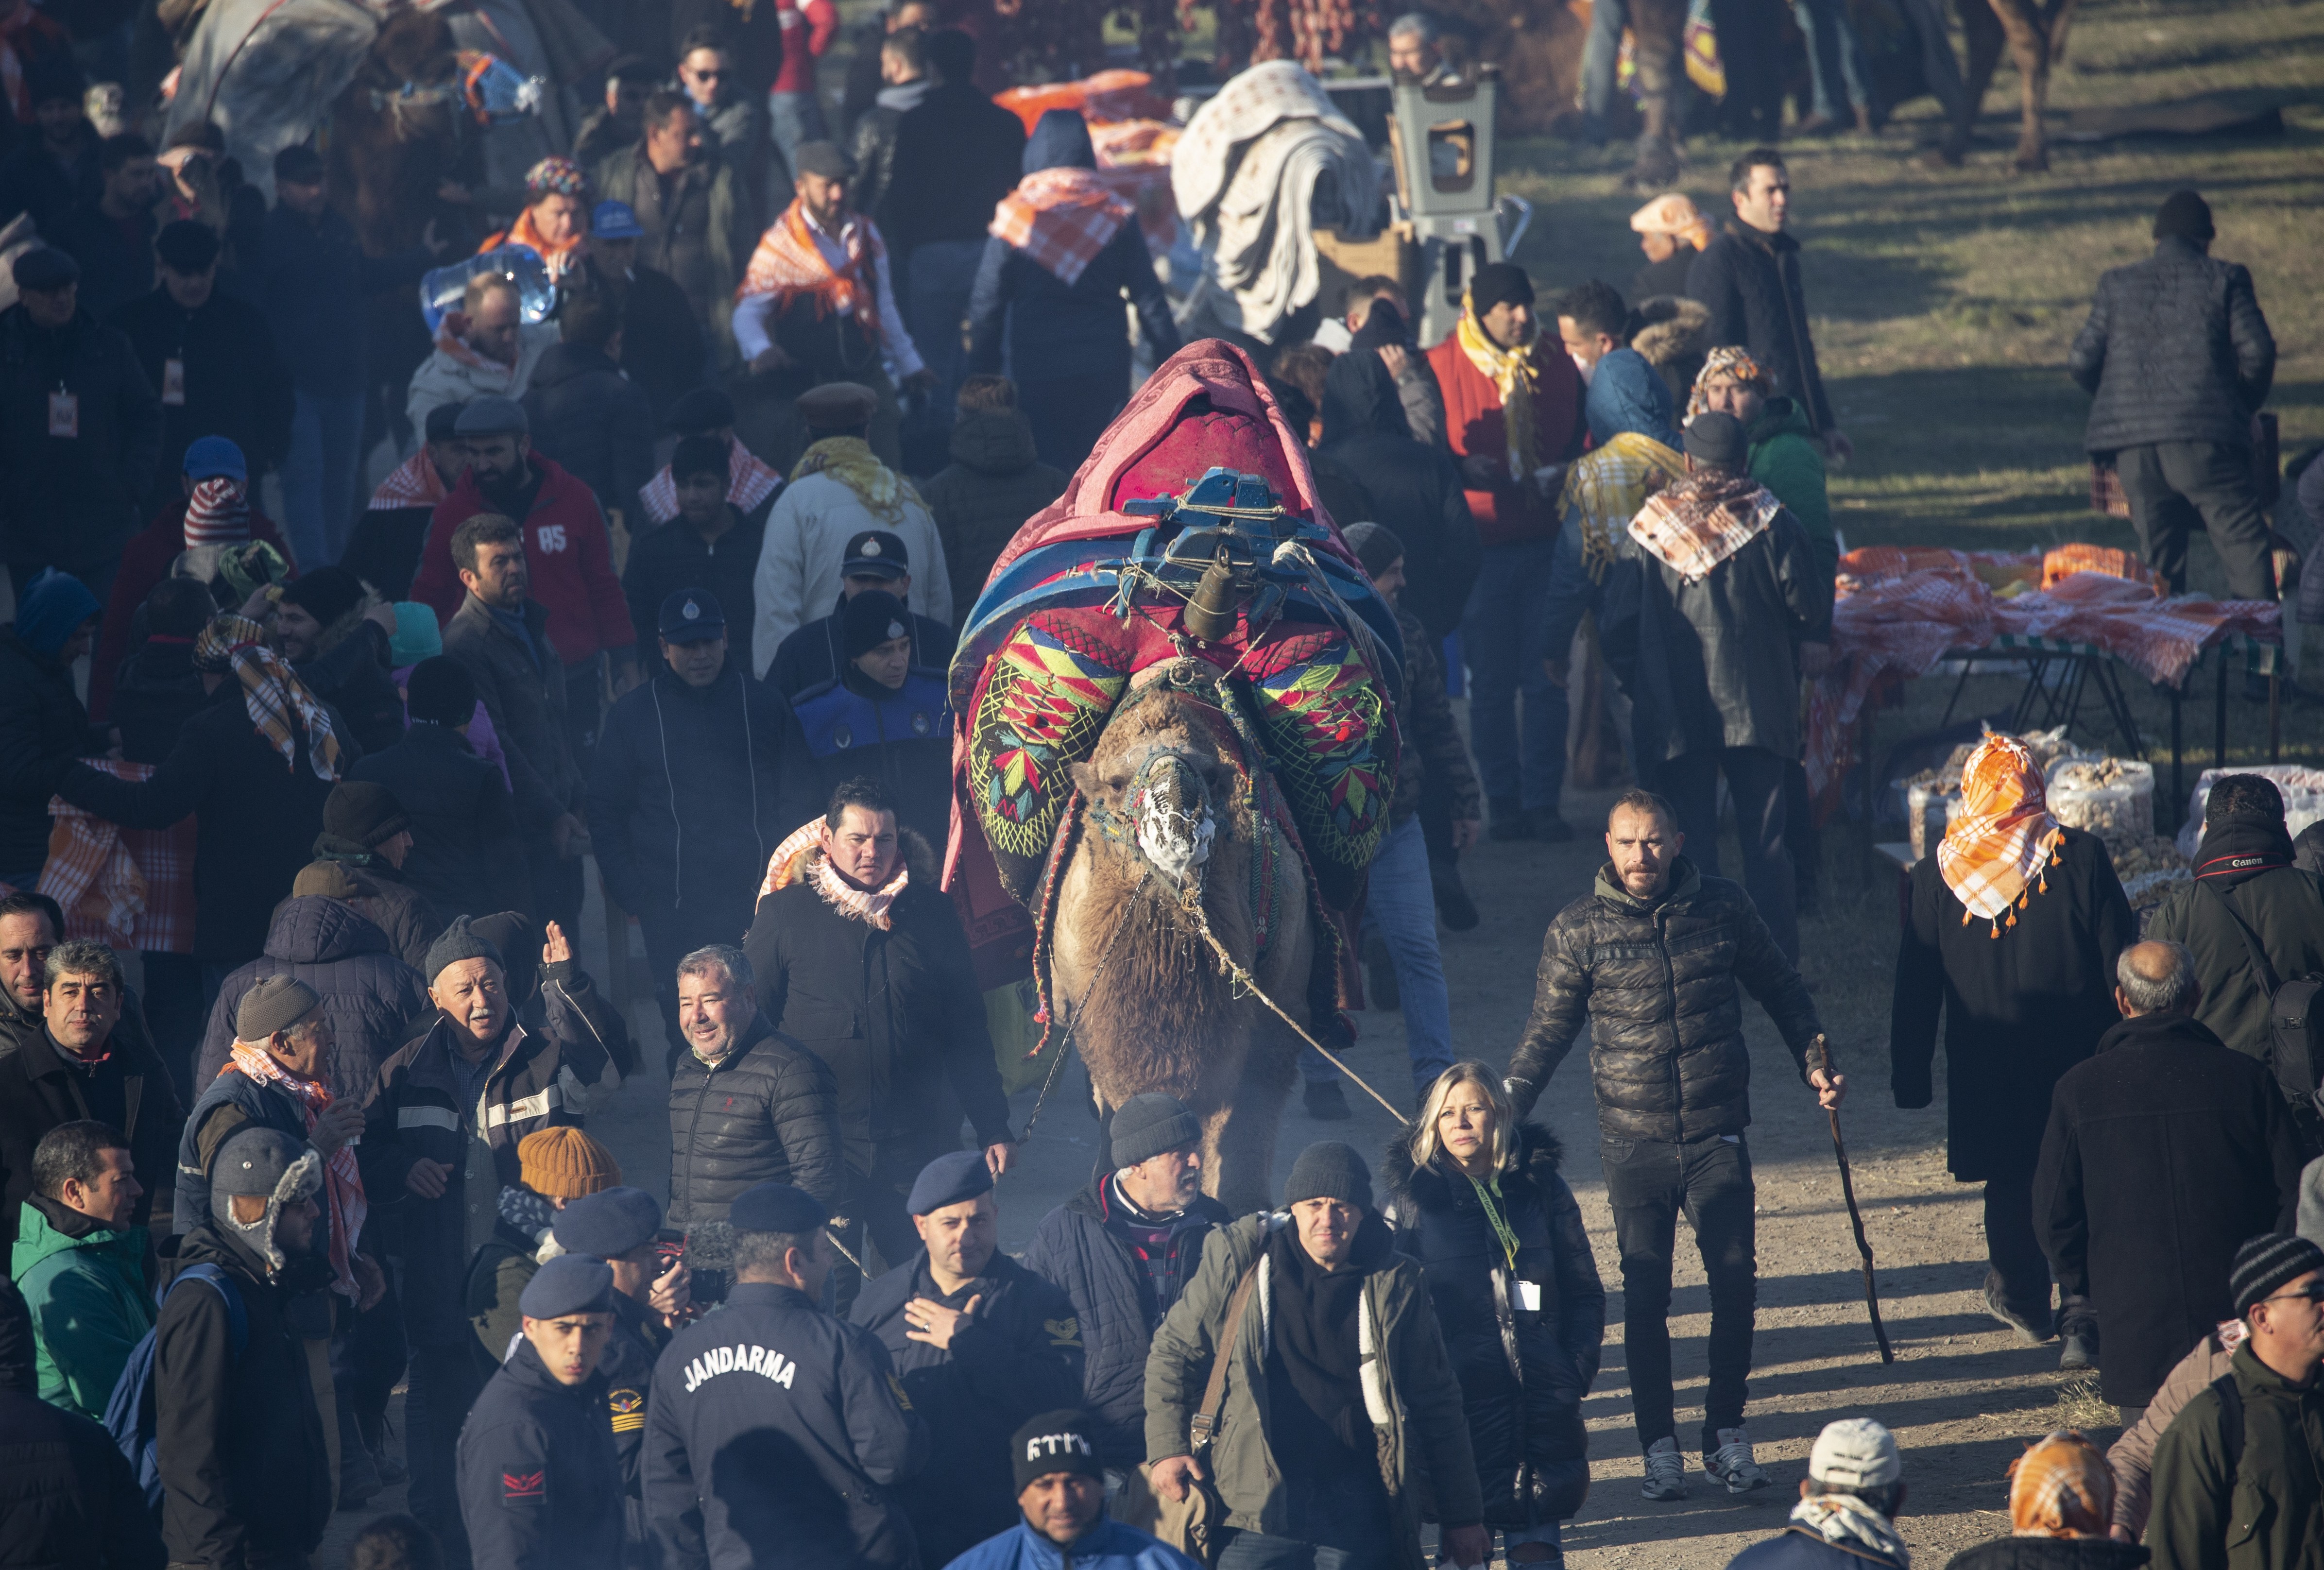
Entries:
[[2208, 530], [2236, 599], [2275, 599], [2268, 518], [2252, 485], [2252, 416], [2275, 339], [2250, 269], [2210, 258], [2210, 207], [2173, 190], [2154, 255], [2099, 279], [2066, 369], [2092, 395], [2082, 446], [2115, 460], [2147, 567], [2187, 590], [2187, 532]]

